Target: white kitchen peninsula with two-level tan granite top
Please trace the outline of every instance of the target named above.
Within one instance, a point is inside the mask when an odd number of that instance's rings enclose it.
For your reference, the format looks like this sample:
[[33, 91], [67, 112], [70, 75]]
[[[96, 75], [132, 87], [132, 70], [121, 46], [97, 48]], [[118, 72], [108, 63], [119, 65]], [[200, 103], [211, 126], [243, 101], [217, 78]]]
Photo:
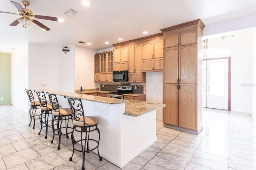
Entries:
[[[157, 141], [156, 109], [165, 104], [40, 90], [56, 94], [61, 108], [69, 108], [64, 96], [81, 98], [85, 115], [99, 119], [100, 155], [120, 168]], [[98, 136], [92, 133], [90, 137]]]

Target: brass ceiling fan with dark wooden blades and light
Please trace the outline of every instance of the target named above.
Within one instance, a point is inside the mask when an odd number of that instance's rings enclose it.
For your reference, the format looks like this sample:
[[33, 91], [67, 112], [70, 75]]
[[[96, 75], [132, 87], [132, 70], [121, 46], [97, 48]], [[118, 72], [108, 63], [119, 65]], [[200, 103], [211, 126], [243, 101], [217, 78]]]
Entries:
[[11, 12], [3, 12], [3, 11], [0, 11], [0, 13], [14, 14], [14, 15], [21, 16], [20, 18], [18, 18], [14, 22], [12, 22], [10, 24], [10, 26], [16, 26], [16, 25], [18, 25], [18, 23], [22, 23], [23, 27], [24, 26], [26, 27], [26, 25], [30, 25], [32, 22], [34, 22], [36, 25], [41, 27], [43, 30], [49, 31], [50, 28], [46, 27], [44, 24], [40, 23], [39, 21], [35, 20], [34, 18], [58, 21], [58, 18], [56, 18], [56, 17], [34, 15], [31, 10], [27, 9], [27, 6], [29, 6], [29, 3], [26, 1], [22, 1], [22, 5], [24, 5], [25, 8], [22, 8], [22, 6], [17, 2], [14, 2], [14, 1], [10, 1], [10, 2], [18, 9], [17, 14], [11, 13]]

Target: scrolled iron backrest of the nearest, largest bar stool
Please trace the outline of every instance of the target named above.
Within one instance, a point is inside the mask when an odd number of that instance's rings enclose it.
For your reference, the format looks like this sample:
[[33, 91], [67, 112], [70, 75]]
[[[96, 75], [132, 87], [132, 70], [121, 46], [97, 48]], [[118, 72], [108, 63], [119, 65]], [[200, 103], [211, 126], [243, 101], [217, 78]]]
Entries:
[[[89, 126], [86, 122], [85, 122], [85, 118], [84, 118], [84, 107], [82, 104], [82, 100], [81, 99], [77, 99], [77, 98], [69, 98], [64, 96], [64, 98], [67, 98], [68, 100], [68, 104], [70, 106], [70, 109], [72, 111], [72, 118], [75, 121], [80, 121], [80, 122], [84, 122], [84, 126]], [[83, 117], [81, 119], [81, 117]]]

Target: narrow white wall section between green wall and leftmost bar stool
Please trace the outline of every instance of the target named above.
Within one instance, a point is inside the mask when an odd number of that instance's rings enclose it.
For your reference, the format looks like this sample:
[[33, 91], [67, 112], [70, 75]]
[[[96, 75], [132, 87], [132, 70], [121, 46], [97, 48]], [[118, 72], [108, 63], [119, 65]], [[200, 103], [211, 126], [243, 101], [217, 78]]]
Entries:
[[28, 44], [11, 53], [11, 104], [28, 113]]

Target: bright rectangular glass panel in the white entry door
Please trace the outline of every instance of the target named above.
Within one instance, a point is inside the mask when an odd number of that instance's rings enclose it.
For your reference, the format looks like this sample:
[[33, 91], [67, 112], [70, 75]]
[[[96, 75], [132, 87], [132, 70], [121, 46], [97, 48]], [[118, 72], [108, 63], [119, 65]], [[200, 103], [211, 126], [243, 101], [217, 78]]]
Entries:
[[210, 63], [210, 95], [225, 96], [225, 63]]

